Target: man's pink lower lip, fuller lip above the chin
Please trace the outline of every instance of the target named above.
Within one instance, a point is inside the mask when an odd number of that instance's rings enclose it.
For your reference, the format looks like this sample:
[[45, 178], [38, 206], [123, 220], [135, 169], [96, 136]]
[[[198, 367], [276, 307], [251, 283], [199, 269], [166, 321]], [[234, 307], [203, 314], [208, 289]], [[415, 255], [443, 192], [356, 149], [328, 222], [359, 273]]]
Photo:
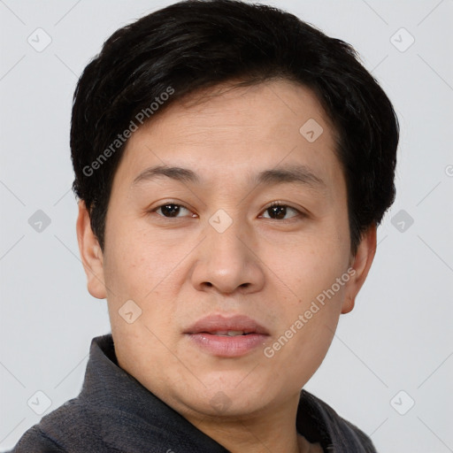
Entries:
[[265, 343], [268, 335], [248, 334], [219, 336], [213, 334], [189, 334], [196, 345], [217, 357], [241, 357]]

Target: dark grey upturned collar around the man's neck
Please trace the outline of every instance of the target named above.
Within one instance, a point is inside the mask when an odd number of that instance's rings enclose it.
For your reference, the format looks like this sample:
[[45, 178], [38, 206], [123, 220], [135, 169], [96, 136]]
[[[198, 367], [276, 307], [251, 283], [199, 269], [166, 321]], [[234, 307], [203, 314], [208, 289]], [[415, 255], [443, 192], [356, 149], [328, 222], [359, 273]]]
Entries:
[[[103, 408], [105, 411], [120, 412], [123, 428], [125, 423], [130, 423], [136, 429], [138, 421], [140, 421], [139, 425], [148, 426], [135, 433], [134, 436], [134, 441], [142, 442], [143, 445], [149, 446], [150, 441], [155, 441], [157, 430], [163, 437], [167, 432], [169, 441], [171, 439], [175, 446], [182, 441], [184, 445], [196, 446], [196, 451], [227, 452], [218, 442], [203, 434], [186, 418], [183, 418], [150, 390], [143, 387], [132, 375], [119, 367], [111, 334], [95, 337], [91, 342], [80, 400], [81, 403], [96, 403], [98, 408]], [[150, 429], [151, 426], [152, 429]], [[333, 451], [334, 448], [334, 451], [338, 453], [342, 451], [348, 451], [348, 453], [374, 451], [359, 448], [358, 439], [357, 448], [354, 447], [354, 444], [351, 443], [354, 441], [354, 437], [357, 438], [352, 429], [354, 427], [340, 418], [330, 406], [319, 398], [304, 389], [301, 391], [296, 428], [298, 433], [303, 434], [308, 441], [319, 441], [325, 451]], [[114, 429], [114, 426], [111, 429]], [[137, 436], [140, 439], [137, 440]], [[114, 440], [111, 442], [112, 447], [118, 448]]]

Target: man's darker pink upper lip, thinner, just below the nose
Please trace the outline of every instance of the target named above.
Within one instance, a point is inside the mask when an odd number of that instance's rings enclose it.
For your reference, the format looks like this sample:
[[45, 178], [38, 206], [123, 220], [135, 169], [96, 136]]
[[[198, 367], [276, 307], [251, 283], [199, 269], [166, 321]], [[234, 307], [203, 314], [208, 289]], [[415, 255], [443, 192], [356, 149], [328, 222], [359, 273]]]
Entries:
[[184, 332], [185, 334], [212, 334], [221, 331], [242, 331], [244, 334], [265, 334], [269, 333], [264, 326], [257, 323], [255, 319], [248, 316], [234, 315], [209, 315], [196, 321], [195, 324], [189, 326]]

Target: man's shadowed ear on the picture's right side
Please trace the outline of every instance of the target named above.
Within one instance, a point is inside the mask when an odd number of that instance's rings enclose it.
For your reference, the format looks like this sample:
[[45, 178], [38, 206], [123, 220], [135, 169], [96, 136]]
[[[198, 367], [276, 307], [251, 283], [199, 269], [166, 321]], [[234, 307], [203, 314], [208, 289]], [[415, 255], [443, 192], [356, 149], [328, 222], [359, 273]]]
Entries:
[[365, 231], [357, 248], [356, 256], [351, 259], [349, 269], [353, 271], [349, 271], [350, 279], [346, 285], [345, 297], [342, 303], [343, 314], [349, 313], [354, 308], [357, 293], [365, 283], [376, 253], [376, 230], [376, 224], [372, 224]]

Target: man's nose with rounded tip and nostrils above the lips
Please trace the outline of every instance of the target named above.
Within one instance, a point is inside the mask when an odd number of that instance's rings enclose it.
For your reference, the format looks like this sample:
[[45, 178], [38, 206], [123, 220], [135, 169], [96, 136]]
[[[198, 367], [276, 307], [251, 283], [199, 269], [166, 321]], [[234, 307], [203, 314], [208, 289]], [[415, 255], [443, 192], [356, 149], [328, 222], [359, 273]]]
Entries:
[[263, 263], [250, 228], [238, 220], [225, 231], [212, 225], [207, 223], [206, 237], [197, 248], [191, 274], [194, 287], [224, 295], [249, 294], [263, 288]]

